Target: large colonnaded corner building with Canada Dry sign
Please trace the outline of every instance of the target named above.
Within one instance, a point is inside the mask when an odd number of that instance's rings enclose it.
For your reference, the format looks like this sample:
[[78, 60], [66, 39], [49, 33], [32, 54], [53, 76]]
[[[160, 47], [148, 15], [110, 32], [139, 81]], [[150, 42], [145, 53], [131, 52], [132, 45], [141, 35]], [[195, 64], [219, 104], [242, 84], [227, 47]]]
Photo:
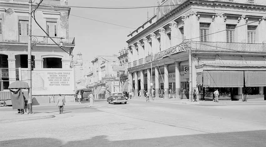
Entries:
[[198, 98], [212, 99], [218, 89], [222, 99], [265, 98], [265, 1], [161, 5], [168, 6], [128, 35], [130, 91], [191, 98], [196, 90]]

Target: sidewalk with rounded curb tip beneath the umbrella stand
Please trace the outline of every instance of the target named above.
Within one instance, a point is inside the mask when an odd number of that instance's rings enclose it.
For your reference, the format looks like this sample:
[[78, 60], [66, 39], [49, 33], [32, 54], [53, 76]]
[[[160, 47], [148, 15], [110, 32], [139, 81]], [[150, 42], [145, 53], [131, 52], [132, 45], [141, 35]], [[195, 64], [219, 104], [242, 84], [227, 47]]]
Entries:
[[[7, 107], [8, 108], [8, 107]], [[5, 108], [1, 108], [5, 109]], [[16, 114], [16, 111], [0, 111], [0, 123], [15, 122], [22, 120], [37, 120], [45, 118], [53, 118], [53, 114], [49, 113], [37, 113], [37, 114]]]

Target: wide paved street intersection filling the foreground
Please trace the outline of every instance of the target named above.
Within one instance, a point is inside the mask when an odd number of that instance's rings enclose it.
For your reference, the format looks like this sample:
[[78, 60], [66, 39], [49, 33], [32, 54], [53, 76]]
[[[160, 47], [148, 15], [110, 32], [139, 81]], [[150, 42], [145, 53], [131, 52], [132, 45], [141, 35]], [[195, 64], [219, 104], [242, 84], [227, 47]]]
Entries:
[[[56, 117], [1, 124], [0, 146], [265, 146], [265, 104], [129, 101], [33, 106]], [[10, 111], [11, 107], [1, 107]], [[18, 133], [19, 130], [19, 133]]]

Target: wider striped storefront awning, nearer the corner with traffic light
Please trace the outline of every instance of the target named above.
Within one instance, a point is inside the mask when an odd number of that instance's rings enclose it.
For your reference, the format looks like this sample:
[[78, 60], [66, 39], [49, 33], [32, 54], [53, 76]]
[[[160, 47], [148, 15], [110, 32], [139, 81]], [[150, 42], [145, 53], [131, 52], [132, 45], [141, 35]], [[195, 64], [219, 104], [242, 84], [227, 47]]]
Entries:
[[244, 71], [203, 71], [203, 87], [244, 87]]

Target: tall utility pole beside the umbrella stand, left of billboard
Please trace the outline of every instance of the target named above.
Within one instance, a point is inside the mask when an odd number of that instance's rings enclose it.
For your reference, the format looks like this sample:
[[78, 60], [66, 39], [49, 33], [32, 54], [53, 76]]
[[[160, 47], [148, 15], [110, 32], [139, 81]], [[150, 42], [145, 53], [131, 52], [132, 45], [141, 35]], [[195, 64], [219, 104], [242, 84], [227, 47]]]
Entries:
[[28, 112], [32, 114], [32, 76], [31, 76], [31, 16], [32, 16], [32, 1], [29, 0], [29, 24], [28, 24]]

